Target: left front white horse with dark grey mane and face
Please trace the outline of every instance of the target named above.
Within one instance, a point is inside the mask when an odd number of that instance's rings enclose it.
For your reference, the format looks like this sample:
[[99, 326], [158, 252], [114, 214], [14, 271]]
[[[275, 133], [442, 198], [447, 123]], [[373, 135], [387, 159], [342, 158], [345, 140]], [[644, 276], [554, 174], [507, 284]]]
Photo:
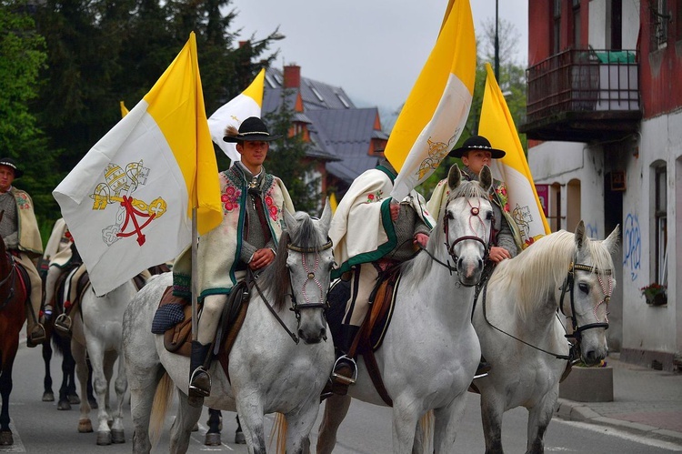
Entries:
[[[319, 220], [306, 213], [295, 217], [286, 213], [285, 221], [276, 260], [256, 279], [258, 289], [251, 291], [244, 325], [229, 356], [229, 379], [214, 361], [209, 369], [211, 395], [204, 399], [212, 409], [238, 412], [250, 453], [266, 452], [264, 415], [272, 412], [286, 416], [286, 452], [305, 449], [320, 393], [334, 365], [334, 346], [322, 341], [326, 340], [324, 309], [334, 265], [327, 238], [331, 209], [327, 204]], [[179, 397], [171, 428], [172, 452], [186, 451], [190, 431], [201, 416], [201, 407], [191, 406], [187, 399], [189, 358], [169, 353], [163, 336], [150, 332], [156, 307], [171, 283], [170, 274], [151, 279], [125, 311], [134, 452], [151, 449], [150, 419], [153, 428], [163, 424], [163, 415], [152, 411], [152, 404], [157, 387], [166, 391], [166, 402], [171, 397], [168, 378], [175, 382]]]

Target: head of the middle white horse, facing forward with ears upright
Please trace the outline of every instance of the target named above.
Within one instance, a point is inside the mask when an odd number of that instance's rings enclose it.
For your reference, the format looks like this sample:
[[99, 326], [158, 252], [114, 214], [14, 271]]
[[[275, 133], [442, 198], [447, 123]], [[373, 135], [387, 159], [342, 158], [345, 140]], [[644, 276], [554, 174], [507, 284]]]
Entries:
[[479, 181], [462, 180], [456, 165], [450, 167], [447, 175], [450, 194], [443, 210], [443, 233], [459, 282], [465, 286], [476, 285], [483, 273], [493, 220], [488, 198], [492, 184], [488, 166], [481, 170]]

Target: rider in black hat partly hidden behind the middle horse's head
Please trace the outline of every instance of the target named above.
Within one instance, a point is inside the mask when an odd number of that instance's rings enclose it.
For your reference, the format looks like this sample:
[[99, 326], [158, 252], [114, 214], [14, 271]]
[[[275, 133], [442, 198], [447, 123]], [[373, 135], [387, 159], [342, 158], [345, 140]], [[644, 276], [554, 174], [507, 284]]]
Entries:
[[[469, 181], [477, 181], [483, 166], [490, 166], [492, 159], [504, 157], [503, 150], [493, 148], [484, 136], [471, 136], [464, 141], [459, 148], [450, 151], [449, 156], [462, 159], [464, 168], [462, 177]], [[426, 207], [433, 216], [438, 217], [440, 210], [447, 201], [447, 178], [438, 182]], [[517, 223], [509, 213], [508, 197], [506, 195], [506, 184], [498, 179], [493, 179], [493, 186], [490, 187], [490, 201], [493, 204], [493, 235], [491, 237], [490, 253], [486, 262], [486, 268], [481, 278], [481, 284], [493, 272], [497, 263], [506, 258], [516, 257], [521, 251], [521, 236], [518, 232]], [[479, 284], [480, 285], [480, 284]], [[485, 358], [481, 358], [476, 370], [476, 376], [485, 374], [490, 370]]]

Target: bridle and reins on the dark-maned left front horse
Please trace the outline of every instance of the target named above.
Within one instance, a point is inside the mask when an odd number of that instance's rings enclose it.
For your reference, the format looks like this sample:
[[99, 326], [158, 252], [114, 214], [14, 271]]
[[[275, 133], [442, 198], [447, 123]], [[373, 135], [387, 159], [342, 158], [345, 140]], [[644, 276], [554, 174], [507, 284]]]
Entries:
[[[319, 281], [318, 277], [316, 276], [316, 272], [320, 271], [319, 269], [319, 258], [320, 258], [320, 252], [325, 251], [327, 249], [330, 249], [332, 247], [332, 240], [328, 239], [327, 242], [320, 246], [320, 247], [299, 247], [295, 245], [286, 245], [286, 249], [291, 252], [296, 252], [298, 254], [302, 255], [301, 261], [303, 262], [303, 267], [304, 270], [307, 273], [307, 281], [303, 283], [303, 286], [301, 286], [301, 294], [303, 297], [306, 299], [306, 302], [304, 303], [299, 303], [296, 300], [296, 294], [294, 292], [294, 284], [291, 281], [291, 270], [287, 269], [287, 273], [289, 275], [289, 288], [291, 288], [292, 292], [288, 294], [289, 298], [291, 299], [291, 308], [289, 310], [294, 311], [294, 314], [296, 315], [296, 323], [301, 321], [301, 309], [312, 309], [312, 308], [329, 308], [329, 303], [326, 301], [325, 298], [325, 288], [322, 287], [322, 283]], [[306, 254], [315, 254], [315, 261], [313, 266], [311, 267], [310, 264], [307, 263], [306, 261]], [[306, 284], [312, 281], [316, 287], [320, 291], [320, 298], [317, 302], [311, 302], [310, 298], [307, 294], [306, 290]], [[286, 333], [289, 335], [290, 338], [298, 344], [300, 341], [300, 338], [296, 336], [295, 333], [293, 333], [287, 326], [286, 323], [280, 318], [277, 313], [275, 308], [272, 307], [272, 305], [267, 301], [267, 298], [265, 295], [263, 295], [263, 292], [261, 291], [260, 287], [258, 287], [258, 282], [257, 282], [257, 277], [254, 278], [254, 287], [256, 287], [256, 291], [258, 292], [258, 295], [260, 295], [260, 298], [263, 299], [263, 302], [266, 304], [266, 307], [270, 310], [273, 316], [275, 316], [276, 320], [279, 322], [279, 324], [286, 330]], [[323, 313], [324, 317], [324, 313]], [[326, 336], [323, 337], [326, 340]]]

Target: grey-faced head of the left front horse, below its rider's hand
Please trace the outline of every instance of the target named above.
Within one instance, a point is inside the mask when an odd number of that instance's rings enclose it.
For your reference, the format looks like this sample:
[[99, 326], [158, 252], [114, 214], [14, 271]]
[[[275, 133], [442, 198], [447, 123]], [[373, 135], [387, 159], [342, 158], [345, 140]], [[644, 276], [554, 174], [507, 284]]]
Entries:
[[291, 300], [298, 319], [298, 337], [306, 344], [326, 340], [326, 292], [334, 266], [332, 243], [327, 237], [331, 219], [328, 201], [319, 219], [304, 212], [285, 213]]

